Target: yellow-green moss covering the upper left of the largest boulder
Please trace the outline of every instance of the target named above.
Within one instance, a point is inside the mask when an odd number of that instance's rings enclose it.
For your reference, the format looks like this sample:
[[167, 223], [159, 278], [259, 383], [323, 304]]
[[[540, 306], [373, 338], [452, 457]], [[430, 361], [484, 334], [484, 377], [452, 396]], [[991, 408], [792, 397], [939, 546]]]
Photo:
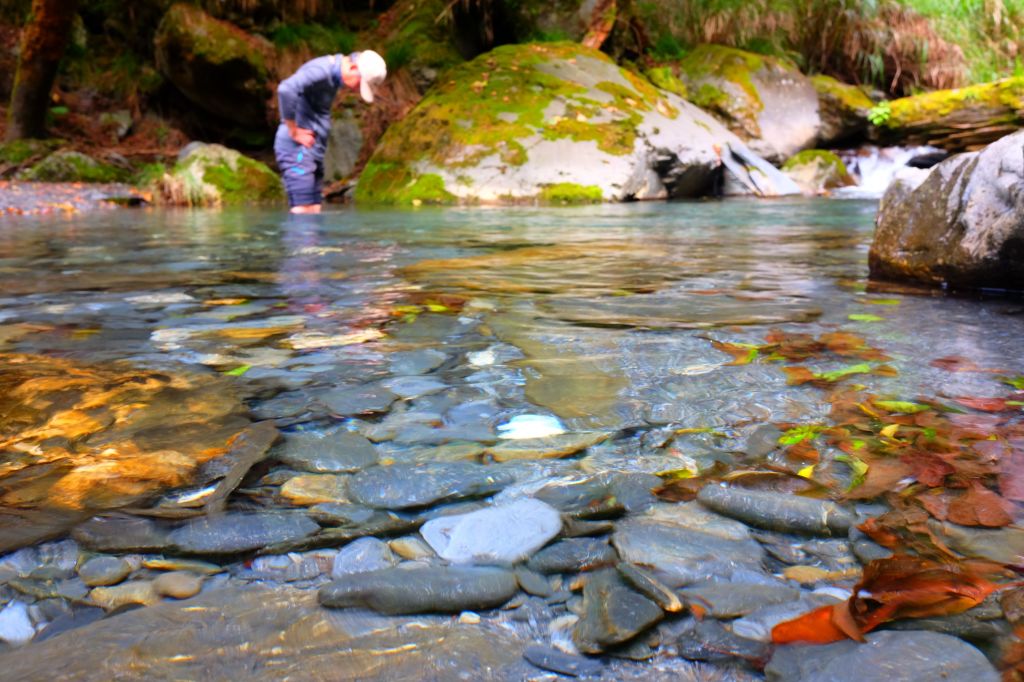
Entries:
[[[581, 59], [602, 61], [621, 78], [592, 87], [575, 82], [573, 65]], [[555, 102], [560, 105], [552, 110]], [[471, 168], [490, 157], [522, 165], [530, 139], [590, 140], [607, 154], [631, 154], [642, 112], [652, 108], [678, 114], [642, 77], [597, 50], [578, 43], [499, 47], [446, 72], [387, 130], [359, 178], [356, 200], [407, 203], [418, 167]], [[424, 203], [455, 201], [444, 187], [431, 188], [438, 191], [420, 198]]]

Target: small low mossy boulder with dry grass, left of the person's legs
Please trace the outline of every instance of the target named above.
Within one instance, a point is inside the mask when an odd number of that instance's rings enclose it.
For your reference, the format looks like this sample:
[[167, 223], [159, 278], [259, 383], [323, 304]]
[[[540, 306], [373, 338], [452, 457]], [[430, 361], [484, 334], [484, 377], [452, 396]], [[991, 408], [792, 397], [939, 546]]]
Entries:
[[264, 164], [220, 144], [193, 144], [153, 185], [161, 203], [175, 206], [243, 206], [281, 203], [285, 187]]

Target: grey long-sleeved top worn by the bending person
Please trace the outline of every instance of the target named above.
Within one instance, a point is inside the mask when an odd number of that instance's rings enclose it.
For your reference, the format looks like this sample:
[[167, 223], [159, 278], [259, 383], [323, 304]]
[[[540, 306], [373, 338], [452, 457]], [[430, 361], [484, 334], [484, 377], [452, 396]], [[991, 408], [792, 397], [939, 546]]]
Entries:
[[295, 121], [300, 128], [315, 133], [311, 152], [316, 159], [323, 159], [327, 152], [331, 104], [341, 83], [341, 55], [331, 54], [310, 59], [278, 86], [281, 120]]

